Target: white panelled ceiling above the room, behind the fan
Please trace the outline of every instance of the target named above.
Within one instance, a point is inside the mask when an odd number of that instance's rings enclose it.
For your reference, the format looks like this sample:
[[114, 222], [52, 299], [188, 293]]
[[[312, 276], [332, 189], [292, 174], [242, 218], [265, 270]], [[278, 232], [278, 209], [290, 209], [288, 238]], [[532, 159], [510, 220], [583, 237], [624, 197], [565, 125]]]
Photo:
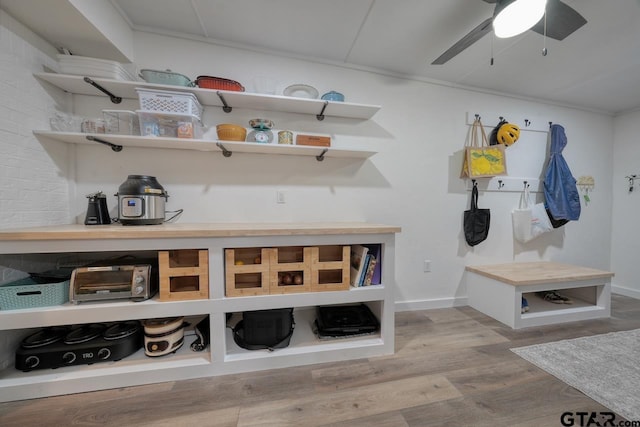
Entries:
[[[563, 41], [487, 35], [483, 0], [110, 0], [135, 30], [186, 35], [616, 114], [640, 108], [640, 0], [564, 0], [587, 24]], [[33, 28], [32, 28], [33, 29]], [[38, 31], [34, 29], [34, 31]], [[494, 64], [490, 64], [492, 57]]]

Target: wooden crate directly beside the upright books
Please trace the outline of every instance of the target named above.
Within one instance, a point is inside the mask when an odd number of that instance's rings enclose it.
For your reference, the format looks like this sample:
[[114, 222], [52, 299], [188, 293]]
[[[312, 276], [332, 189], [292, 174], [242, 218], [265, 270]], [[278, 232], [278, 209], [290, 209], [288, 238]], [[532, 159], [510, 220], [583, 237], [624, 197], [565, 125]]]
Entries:
[[351, 246], [326, 245], [311, 249], [311, 290], [349, 290]]

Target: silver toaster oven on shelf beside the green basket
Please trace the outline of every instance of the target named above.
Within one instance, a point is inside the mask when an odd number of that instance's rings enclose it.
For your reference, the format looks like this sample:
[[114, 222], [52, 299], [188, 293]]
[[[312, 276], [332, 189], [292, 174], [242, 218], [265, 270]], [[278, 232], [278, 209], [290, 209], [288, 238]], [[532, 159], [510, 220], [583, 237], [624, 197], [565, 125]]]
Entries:
[[143, 301], [157, 290], [157, 269], [151, 264], [79, 267], [71, 274], [69, 300], [73, 304], [114, 299]]

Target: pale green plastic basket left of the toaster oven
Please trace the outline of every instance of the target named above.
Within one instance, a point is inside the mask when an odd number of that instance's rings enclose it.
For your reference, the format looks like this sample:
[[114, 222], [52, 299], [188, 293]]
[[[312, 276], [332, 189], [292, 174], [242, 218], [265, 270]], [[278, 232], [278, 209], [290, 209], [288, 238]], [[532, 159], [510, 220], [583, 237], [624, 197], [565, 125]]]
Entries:
[[38, 283], [31, 277], [0, 285], [0, 310], [47, 307], [69, 301], [69, 280]]

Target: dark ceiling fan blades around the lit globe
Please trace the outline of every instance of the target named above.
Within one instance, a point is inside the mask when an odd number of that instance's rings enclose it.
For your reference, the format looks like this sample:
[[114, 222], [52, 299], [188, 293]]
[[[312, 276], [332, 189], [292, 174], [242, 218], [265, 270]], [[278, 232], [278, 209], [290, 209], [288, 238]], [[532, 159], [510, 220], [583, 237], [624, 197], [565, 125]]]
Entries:
[[[498, 12], [505, 8], [506, 3], [512, 3], [508, 0], [483, 0], [486, 3], [496, 3], [493, 16], [482, 21], [480, 25], [475, 27], [469, 34], [461, 38], [457, 43], [447, 49], [442, 55], [436, 58], [431, 65], [442, 65], [451, 58], [480, 40], [493, 29], [493, 20]], [[536, 23], [531, 30], [536, 33], [551, 37], [555, 40], [563, 40], [569, 34], [576, 31], [587, 23], [582, 15], [576, 12], [571, 6], [561, 2], [560, 0], [547, 0], [546, 5], [546, 28], [545, 18], [543, 17]]]

